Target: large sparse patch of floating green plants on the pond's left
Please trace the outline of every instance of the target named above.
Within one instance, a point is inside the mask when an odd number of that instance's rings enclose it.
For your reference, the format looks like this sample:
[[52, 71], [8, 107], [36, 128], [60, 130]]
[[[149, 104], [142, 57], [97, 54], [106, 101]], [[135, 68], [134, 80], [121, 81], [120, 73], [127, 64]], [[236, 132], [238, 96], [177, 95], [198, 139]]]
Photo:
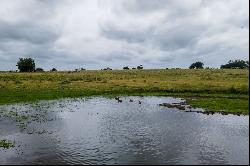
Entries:
[[[79, 102], [79, 99], [72, 101]], [[16, 122], [14, 124], [20, 131], [27, 134], [51, 134], [44, 128], [46, 125], [41, 125], [41, 123], [51, 123], [51, 121], [58, 119], [57, 112], [63, 110], [73, 112], [71, 108], [75, 108], [76, 105], [71, 103], [72, 101], [40, 101], [29, 104], [0, 106], [0, 118]]]

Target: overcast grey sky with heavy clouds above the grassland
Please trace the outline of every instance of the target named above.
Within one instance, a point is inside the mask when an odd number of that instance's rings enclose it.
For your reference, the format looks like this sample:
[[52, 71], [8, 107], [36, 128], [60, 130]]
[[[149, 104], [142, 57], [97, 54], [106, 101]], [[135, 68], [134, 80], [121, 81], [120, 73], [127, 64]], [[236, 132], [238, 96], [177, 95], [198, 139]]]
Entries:
[[0, 70], [219, 67], [249, 59], [248, 0], [0, 0]]

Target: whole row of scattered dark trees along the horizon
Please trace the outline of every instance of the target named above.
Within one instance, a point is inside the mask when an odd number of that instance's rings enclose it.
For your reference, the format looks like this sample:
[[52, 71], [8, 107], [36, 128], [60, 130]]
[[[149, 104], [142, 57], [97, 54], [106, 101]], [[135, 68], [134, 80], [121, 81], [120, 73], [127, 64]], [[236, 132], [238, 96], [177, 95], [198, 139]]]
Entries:
[[[32, 58], [19, 58], [19, 61], [16, 65], [20, 72], [43, 72], [44, 70], [42, 68], [36, 68], [35, 60]], [[227, 64], [221, 65], [221, 69], [248, 69], [249, 68], [249, 61], [244, 60], [230, 60]], [[124, 70], [129, 70], [130, 68], [128, 66], [123, 67]], [[132, 67], [131, 69], [143, 69], [142, 65], [139, 65], [137, 67]], [[166, 68], [168, 69], [168, 68]], [[204, 63], [203, 62], [195, 62], [192, 63], [189, 66], [189, 69], [204, 69]], [[75, 69], [75, 71], [83, 71], [86, 70], [84, 68]], [[111, 68], [107, 67], [101, 70], [112, 70]], [[54, 72], [57, 71], [56, 68], [52, 68], [50, 71]]]

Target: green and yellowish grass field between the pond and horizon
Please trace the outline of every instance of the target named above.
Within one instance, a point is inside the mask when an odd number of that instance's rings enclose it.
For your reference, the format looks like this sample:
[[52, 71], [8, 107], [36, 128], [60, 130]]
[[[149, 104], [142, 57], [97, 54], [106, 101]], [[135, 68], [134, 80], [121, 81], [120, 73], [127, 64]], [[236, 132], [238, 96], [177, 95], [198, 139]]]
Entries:
[[196, 97], [195, 107], [248, 114], [249, 70], [0, 73], [0, 104], [97, 95]]

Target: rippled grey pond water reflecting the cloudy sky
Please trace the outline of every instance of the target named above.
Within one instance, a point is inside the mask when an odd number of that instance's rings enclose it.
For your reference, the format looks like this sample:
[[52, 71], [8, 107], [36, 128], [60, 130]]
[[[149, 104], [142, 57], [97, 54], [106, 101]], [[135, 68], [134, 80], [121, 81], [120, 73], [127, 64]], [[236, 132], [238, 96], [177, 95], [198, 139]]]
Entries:
[[0, 164], [249, 164], [249, 116], [199, 114], [172, 97], [0, 106]]

